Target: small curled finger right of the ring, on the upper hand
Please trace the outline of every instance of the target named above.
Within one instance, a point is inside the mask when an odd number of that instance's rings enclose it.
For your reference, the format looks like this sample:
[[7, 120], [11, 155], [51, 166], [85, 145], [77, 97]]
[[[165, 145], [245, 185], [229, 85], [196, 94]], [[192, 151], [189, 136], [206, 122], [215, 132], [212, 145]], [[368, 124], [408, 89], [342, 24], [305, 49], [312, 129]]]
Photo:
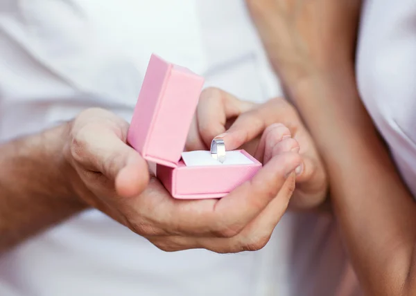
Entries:
[[[271, 149], [286, 138], [291, 138], [291, 131], [281, 123], [269, 125], [261, 136], [254, 157], [261, 163], [267, 163], [272, 157]], [[289, 150], [288, 150], [289, 151]]]

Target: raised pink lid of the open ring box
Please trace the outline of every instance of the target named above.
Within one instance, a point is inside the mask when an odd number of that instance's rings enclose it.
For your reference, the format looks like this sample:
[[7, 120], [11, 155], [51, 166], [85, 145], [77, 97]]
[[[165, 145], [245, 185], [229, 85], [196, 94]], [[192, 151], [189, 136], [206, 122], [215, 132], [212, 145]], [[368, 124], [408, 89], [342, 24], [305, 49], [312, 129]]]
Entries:
[[153, 54], [128, 130], [128, 143], [149, 161], [177, 167], [204, 79]]

